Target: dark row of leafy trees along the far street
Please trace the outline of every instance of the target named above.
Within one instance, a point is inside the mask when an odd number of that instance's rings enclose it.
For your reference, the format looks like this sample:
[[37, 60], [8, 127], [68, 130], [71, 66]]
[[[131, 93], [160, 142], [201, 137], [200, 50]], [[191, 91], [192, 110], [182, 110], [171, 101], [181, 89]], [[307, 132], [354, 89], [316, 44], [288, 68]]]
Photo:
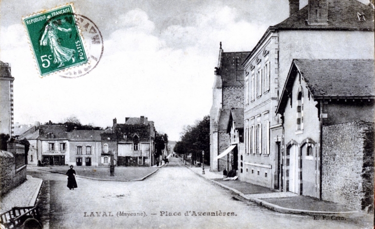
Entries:
[[179, 155], [191, 155], [192, 163], [201, 162], [204, 151], [204, 163], [210, 165], [210, 116], [204, 116], [194, 125], [185, 126], [181, 141], [176, 143], [173, 150]]

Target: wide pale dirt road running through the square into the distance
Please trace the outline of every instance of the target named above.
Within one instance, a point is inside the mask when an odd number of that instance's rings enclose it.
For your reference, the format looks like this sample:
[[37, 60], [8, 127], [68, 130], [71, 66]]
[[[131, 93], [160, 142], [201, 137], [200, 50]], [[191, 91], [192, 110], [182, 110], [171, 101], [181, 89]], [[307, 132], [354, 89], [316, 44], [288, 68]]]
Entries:
[[144, 181], [78, 178], [74, 190], [66, 187], [64, 175], [30, 174], [49, 180], [49, 228], [359, 227], [353, 222], [273, 212], [197, 176], [175, 158]]

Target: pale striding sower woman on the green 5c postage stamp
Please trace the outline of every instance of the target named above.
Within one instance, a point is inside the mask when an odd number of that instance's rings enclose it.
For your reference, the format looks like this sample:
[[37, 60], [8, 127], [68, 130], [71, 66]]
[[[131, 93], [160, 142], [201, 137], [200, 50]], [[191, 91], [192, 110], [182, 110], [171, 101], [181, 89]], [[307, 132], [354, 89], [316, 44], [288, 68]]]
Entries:
[[60, 63], [60, 65], [58, 66], [59, 68], [64, 66], [64, 62], [71, 60], [72, 63], [74, 63], [76, 61], [76, 59], [74, 59], [74, 53], [76, 53], [76, 51], [73, 49], [62, 47], [59, 42], [59, 36], [57, 34], [57, 30], [60, 30], [62, 32], [70, 32], [71, 28], [61, 28], [60, 26], [55, 25], [55, 23], [52, 22], [50, 19], [51, 16], [48, 15], [47, 25], [42, 35], [40, 43], [41, 46], [47, 46], [47, 44], [49, 43], [49, 47], [51, 48], [51, 51], [53, 53], [53, 63]]

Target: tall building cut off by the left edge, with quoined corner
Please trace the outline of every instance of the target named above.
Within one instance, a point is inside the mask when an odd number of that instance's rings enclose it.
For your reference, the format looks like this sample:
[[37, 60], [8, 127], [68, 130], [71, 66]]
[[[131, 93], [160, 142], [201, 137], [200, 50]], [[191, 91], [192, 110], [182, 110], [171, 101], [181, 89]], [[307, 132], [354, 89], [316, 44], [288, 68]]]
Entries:
[[13, 81], [10, 65], [0, 61], [0, 133], [13, 136]]

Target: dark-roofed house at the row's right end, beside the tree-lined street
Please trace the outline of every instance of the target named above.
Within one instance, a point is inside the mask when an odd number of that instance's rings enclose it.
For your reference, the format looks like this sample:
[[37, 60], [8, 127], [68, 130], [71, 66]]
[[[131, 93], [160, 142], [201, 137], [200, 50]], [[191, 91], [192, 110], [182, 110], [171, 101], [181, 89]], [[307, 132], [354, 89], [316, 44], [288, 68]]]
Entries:
[[155, 127], [147, 117], [125, 118], [124, 124], [114, 119], [118, 166], [153, 166], [155, 159]]

